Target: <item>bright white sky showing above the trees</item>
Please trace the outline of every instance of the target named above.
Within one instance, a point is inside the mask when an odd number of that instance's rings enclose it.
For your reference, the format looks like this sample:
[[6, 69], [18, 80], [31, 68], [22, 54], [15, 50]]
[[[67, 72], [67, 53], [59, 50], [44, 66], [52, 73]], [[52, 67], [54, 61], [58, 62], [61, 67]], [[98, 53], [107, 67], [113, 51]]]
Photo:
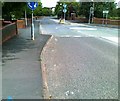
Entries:
[[[41, 0], [43, 7], [55, 7], [59, 0]], [[120, 0], [116, 0], [118, 3]]]

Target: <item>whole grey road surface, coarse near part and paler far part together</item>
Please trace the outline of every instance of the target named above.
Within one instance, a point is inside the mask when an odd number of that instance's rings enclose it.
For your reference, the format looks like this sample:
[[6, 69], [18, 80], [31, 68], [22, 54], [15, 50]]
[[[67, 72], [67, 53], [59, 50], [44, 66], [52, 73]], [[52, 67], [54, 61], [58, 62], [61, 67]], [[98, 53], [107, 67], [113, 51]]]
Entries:
[[118, 99], [118, 29], [40, 22], [42, 34], [53, 35], [41, 55], [47, 97]]

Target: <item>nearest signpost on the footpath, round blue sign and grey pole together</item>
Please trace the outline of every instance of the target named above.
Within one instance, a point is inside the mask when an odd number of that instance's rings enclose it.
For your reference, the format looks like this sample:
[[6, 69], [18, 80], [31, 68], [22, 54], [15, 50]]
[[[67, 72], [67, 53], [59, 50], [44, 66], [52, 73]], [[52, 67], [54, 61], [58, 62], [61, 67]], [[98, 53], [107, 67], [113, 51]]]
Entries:
[[31, 40], [34, 40], [33, 10], [37, 8], [38, 2], [28, 2], [27, 5], [32, 10]]

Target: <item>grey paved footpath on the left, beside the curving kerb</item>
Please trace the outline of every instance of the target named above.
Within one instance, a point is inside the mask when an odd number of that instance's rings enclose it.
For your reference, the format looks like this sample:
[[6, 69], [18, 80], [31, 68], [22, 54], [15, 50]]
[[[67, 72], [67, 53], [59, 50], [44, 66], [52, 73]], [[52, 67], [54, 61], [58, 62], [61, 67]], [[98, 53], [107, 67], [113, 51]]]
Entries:
[[19, 35], [3, 44], [2, 98], [42, 99], [43, 85], [40, 53], [49, 35], [39, 34], [35, 23], [35, 40], [30, 40], [30, 27], [19, 29]]

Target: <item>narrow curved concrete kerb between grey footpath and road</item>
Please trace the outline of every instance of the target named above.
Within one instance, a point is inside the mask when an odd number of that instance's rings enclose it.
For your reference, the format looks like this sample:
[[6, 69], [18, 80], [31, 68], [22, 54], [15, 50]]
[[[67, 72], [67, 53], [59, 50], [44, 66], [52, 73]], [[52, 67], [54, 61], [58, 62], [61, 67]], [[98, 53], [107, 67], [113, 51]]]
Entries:
[[41, 70], [42, 70], [42, 79], [43, 79], [43, 97], [44, 99], [51, 99], [51, 95], [49, 93], [49, 88], [48, 88], [48, 83], [47, 83], [47, 72], [46, 72], [46, 64], [45, 64], [45, 60], [44, 60], [44, 54], [45, 51], [47, 49], [47, 46], [49, 45], [50, 41], [53, 39], [53, 35], [51, 35], [50, 39], [46, 42], [41, 55], [40, 55], [40, 59], [41, 59]]

